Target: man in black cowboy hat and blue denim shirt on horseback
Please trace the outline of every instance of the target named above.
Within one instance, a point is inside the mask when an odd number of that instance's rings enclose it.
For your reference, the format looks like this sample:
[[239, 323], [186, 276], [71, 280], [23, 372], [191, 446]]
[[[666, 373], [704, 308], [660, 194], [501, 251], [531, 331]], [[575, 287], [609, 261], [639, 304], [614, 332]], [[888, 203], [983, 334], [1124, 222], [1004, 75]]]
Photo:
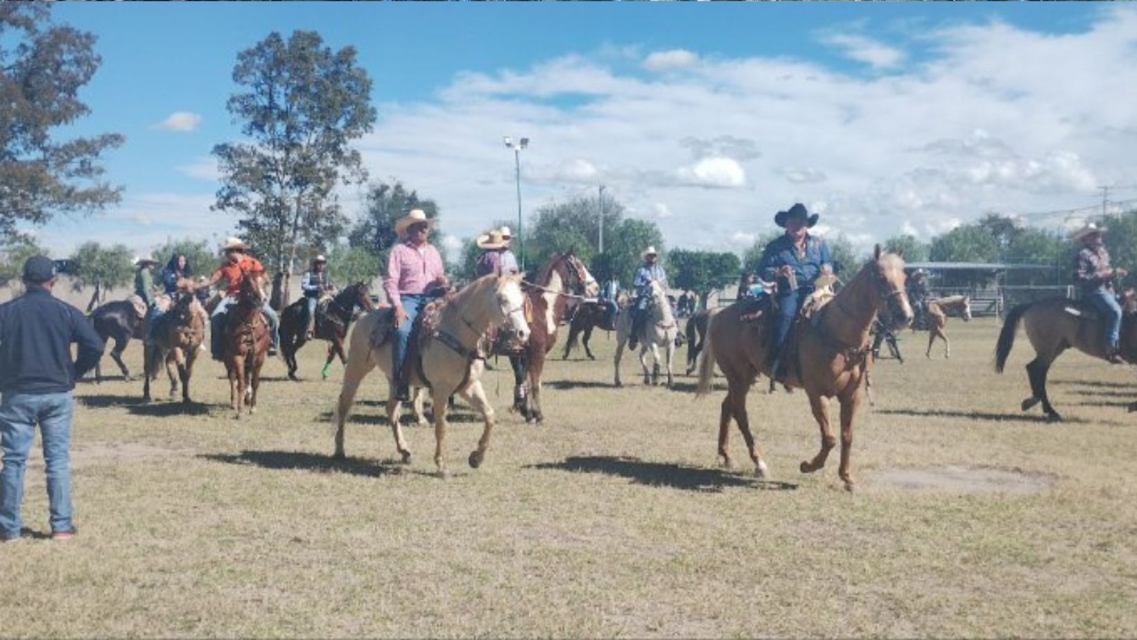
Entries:
[[[771, 391], [774, 382], [785, 382], [786, 363], [783, 350], [786, 338], [797, 317], [802, 302], [813, 293], [816, 280], [822, 275], [832, 275], [833, 264], [829, 257], [829, 247], [823, 240], [811, 235], [808, 230], [818, 224], [818, 214], [810, 215], [805, 205], [794, 205], [787, 211], [774, 215], [774, 224], [786, 230], [786, 233], [766, 244], [762, 253], [762, 279], [775, 281], [778, 289], [778, 315], [774, 317], [774, 332], [770, 341], [769, 354], [773, 358], [770, 367]], [[828, 279], [827, 279], [828, 280]]]

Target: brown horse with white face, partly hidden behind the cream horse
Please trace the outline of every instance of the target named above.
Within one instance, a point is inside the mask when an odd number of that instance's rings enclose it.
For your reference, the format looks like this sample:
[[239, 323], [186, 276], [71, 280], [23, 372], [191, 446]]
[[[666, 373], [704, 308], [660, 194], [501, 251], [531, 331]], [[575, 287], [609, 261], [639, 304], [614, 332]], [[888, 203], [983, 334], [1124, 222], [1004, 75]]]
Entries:
[[[513, 410], [521, 412], [525, 422], [543, 422], [541, 412], [541, 372], [545, 358], [557, 342], [557, 329], [565, 317], [571, 297], [595, 298], [599, 285], [584, 263], [572, 251], [554, 255], [541, 271], [537, 282], [526, 283], [526, 316], [532, 318], [532, 334], [521, 355], [523, 366], [514, 367]], [[511, 358], [512, 359], [512, 358]]]

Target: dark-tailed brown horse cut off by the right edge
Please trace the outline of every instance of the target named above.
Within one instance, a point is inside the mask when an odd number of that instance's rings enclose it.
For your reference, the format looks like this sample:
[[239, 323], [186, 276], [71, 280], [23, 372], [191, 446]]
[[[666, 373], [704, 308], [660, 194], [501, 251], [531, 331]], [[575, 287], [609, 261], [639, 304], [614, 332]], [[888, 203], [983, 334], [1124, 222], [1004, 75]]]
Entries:
[[[1137, 294], [1132, 289], [1122, 296], [1121, 307], [1121, 357], [1129, 364], [1137, 364]], [[1045, 298], [1014, 307], [1006, 315], [995, 346], [995, 371], [998, 373], [1003, 373], [1003, 367], [1006, 366], [1019, 323], [1022, 323], [1027, 338], [1035, 348], [1035, 359], [1027, 364], [1030, 397], [1022, 401], [1022, 410], [1041, 402], [1043, 413], [1047, 417], [1061, 421], [1062, 416], [1054, 410], [1046, 394], [1046, 373], [1062, 351], [1070, 347], [1105, 359], [1102, 319], [1089, 304], [1067, 298]], [[1137, 410], [1137, 402], [1131, 402], [1129, 410]]]

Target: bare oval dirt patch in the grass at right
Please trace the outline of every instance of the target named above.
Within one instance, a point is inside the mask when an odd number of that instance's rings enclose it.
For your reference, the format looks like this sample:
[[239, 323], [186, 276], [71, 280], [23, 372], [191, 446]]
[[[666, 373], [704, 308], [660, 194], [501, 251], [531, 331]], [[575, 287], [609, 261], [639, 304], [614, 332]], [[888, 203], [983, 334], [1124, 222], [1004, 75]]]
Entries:
[[890, 468], [871, 479], [875, 489], [948, 493], [1035, 493], [1053, 484], [1045, 474], [968, 465]]

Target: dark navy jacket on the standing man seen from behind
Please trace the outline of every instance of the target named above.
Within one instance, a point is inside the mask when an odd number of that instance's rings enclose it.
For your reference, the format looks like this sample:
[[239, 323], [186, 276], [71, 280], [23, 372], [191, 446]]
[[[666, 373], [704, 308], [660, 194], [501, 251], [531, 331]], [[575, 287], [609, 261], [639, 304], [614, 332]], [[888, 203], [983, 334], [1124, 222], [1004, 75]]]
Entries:
[[[72, 363], [70, 346], [78, 343]], [[102, 357], [102, 339], [82, 311], [30, 286], [0, 305], [0, 393], [65, 393]]]

